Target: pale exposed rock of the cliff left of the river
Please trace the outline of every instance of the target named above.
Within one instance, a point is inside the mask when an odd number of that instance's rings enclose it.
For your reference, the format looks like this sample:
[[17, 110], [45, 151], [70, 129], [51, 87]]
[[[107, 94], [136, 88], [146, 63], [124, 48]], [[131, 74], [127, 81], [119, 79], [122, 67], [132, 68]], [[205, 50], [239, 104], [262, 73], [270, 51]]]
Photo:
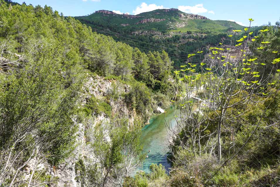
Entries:
[[[119, 94], [128, 93], [130, 86], [121, 84], [115, 80], [106, 80], [99, 76], [94, 78], [89, 77], [84, 85], [84, 94], [82, 94], [81, 100], [83, 103], [86, 103], [86, 100], [92, 96], [99, 99], [108, 97], [113, 89], [115, 89], [115, 91]], [[128, 118], [128, 125], [133, 125], [135, 118], [138, 118], [135, 110], [129, 109], [126, 106], [124, 99], [121, 97], [118, 97], [117, 99], [111, 98], [110, 105], [112, 107], [112, 116]], [[64, 163], [50, 168], [50, 173], [55, 179], [53, 186], [56, 187], [81, 187], [81, 181], [79, 181], [78, 177], [79, 173], [75, 171], [77, 161], [82, 159], [85, 163], [98, 162], [95, 155], [90, 151], [89, 145], [86, 144], [88, 139], [87, 132], [93, 130], [97, 124], [101, 126], [108, 124], [108, 122], [110, 122], [110, 118], [109, 116], [106, 116], [105, 113], [100, 113], [93, 115], [92, 118], [85, 119], [82, 122], [78, 122], [77, 119], [74, 119], [74, 122], [79, 127], [77, 132], [76, 148], [74, 149], [72, 155], [66, 159]], [[104, 141], [110, 141], [110, 137], [107, 136]]]

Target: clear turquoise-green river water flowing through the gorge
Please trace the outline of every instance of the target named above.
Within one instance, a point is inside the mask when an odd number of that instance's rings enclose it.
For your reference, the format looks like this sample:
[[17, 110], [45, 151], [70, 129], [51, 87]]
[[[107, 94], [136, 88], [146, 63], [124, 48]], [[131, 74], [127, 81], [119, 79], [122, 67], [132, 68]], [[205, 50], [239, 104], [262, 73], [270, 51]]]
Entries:
[[[171, 123], [174, 127], [176, 120], [174, 119], [173, 107], [165, 110], [166, 113], [153, 115], [150, 119], [150, 124], [143, 127], [141, 143], [143, 145], [143, 152], [148, 155], [143, 165], [136, 169], [136, 171], [145, 171], [150, 173], [150, 165], [162, 164], [166, 171], [170, 171], [171, 163], [167, 160], [167, 152], [169, 151], [168, 139], [169, 132], [166, 128], [166, 122]], [[175, 110], [175, 114], [177, 110]], [[166, 120], [166, 122], [165, 122]], [[148, 152], [150, 150], [150, 152]]]

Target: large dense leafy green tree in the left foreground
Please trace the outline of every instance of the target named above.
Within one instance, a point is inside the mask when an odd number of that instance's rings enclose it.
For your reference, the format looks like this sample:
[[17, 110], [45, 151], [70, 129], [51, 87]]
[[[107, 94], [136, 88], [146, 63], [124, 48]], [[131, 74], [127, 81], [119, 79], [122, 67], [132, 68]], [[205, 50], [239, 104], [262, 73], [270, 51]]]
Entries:
[[47, 48], [38, 58], [1, 81], [0, 185], [20, 182], [19, 171], [31, 159], [37, 165], [57, 165], [73, 149], [76, 126], [71, 117], [80, 88], [73, 84], [65, 89], [60, 66]]

